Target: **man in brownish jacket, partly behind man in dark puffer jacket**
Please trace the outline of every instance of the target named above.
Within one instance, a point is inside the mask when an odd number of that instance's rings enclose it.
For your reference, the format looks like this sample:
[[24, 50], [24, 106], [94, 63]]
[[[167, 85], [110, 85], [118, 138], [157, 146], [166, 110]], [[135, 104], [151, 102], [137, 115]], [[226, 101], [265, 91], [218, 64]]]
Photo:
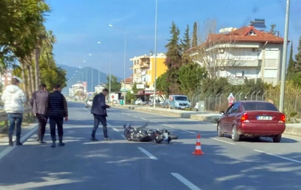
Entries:
[[39, 121], [39, 128], [38, 128], [38, 138], [41, 144], [46, 143], [43, 138], [45, 135], [46, 124], [47, 124], [47, 117], [45, 117], [45, 107], [46, 107], [46, 100], [48, 97], [48, 92], [46, 91], [46, 85], [40, 84], [40, 90], [35, 91], [33, 93], [32, 98], [30, 98], [30, 104], [33, 107], [33, 113], [36, 115]]

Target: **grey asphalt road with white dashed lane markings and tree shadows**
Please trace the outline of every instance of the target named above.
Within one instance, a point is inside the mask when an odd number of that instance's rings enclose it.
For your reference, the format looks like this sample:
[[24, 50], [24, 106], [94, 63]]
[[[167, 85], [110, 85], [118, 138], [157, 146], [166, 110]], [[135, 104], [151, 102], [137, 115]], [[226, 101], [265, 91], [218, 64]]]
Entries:
[[[216, 124], [128, 109], [108, 110], [110, 141], [101, 126], [91, 142], [92, 115], [69, 102], [64, 147], [37, 143], [34, 128], [23, 146], [0, 152], [0, 189], [301, 189], [301, 139], [233, 142], [216, 137]], [[167, 128], [170, 144], [129, 142], [122, 125]], [[193, 155], [197, 134], [204, 155]], [[33, 135], [32, 135], [33, 134]], [[28, 139], [26, 139], [28, 138]]]

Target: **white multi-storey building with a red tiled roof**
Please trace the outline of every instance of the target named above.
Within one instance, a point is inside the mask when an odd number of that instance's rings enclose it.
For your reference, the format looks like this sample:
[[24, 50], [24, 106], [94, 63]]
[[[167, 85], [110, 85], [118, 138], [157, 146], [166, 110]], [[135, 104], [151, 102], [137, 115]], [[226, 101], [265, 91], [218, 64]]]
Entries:
[[[207, 41], [189, 50], [212, 77], [261, 78], [277, 85], [280, 80], [283, 38], [252, 24], [228, 33], [209, 34]], [[241, 83], [240, 82], [240, 83]]]

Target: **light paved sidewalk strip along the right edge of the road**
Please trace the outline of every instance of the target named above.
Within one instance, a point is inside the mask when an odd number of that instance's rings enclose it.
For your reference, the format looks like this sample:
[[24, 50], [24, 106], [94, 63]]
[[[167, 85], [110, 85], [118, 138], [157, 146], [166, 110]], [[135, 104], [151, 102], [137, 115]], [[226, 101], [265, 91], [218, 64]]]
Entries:
[[[197, 112], [197, 111], [185, 111], [185, 110], [178, 110], [178, 109], [167, 109], [167, 108], [161, 108], [161, 107], [150, 107], [150, 106], [143, 106], [143, 105], [112, 105], [119, 108], [124, 109], [134, 109], [139, 111], [145, 111], [145, 112], [153, 112], [153, 113], [159, 113], [159, 114], [165, 114], [165, 115], [172, 115], [182, 118], [191, 118], [195, 120], [201, 120], [201, 121], [208, 121], [217, 123], [219, 118], [222, 116], [219, 113], [214, 112]], [[284, 134], [289, 135], [295, 135], [295, 136], [301, 136], [301, 123], [286, 123]]]

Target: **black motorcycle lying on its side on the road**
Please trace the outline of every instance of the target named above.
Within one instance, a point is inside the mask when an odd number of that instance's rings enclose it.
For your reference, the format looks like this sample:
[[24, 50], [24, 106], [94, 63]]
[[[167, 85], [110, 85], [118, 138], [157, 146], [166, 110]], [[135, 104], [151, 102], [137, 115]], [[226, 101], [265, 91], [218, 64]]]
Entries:
[[167, 129], [146, 129], [148, 123], [139, 126], [137, 128], [132, 127], [130, 124], [123, 125], [124, 137], [128, 141], [136, 142], [156, 142], [161, 143], [162, 141], [170, 142], [172, 139], [178, 139], [178, 135], [172, 134]]

